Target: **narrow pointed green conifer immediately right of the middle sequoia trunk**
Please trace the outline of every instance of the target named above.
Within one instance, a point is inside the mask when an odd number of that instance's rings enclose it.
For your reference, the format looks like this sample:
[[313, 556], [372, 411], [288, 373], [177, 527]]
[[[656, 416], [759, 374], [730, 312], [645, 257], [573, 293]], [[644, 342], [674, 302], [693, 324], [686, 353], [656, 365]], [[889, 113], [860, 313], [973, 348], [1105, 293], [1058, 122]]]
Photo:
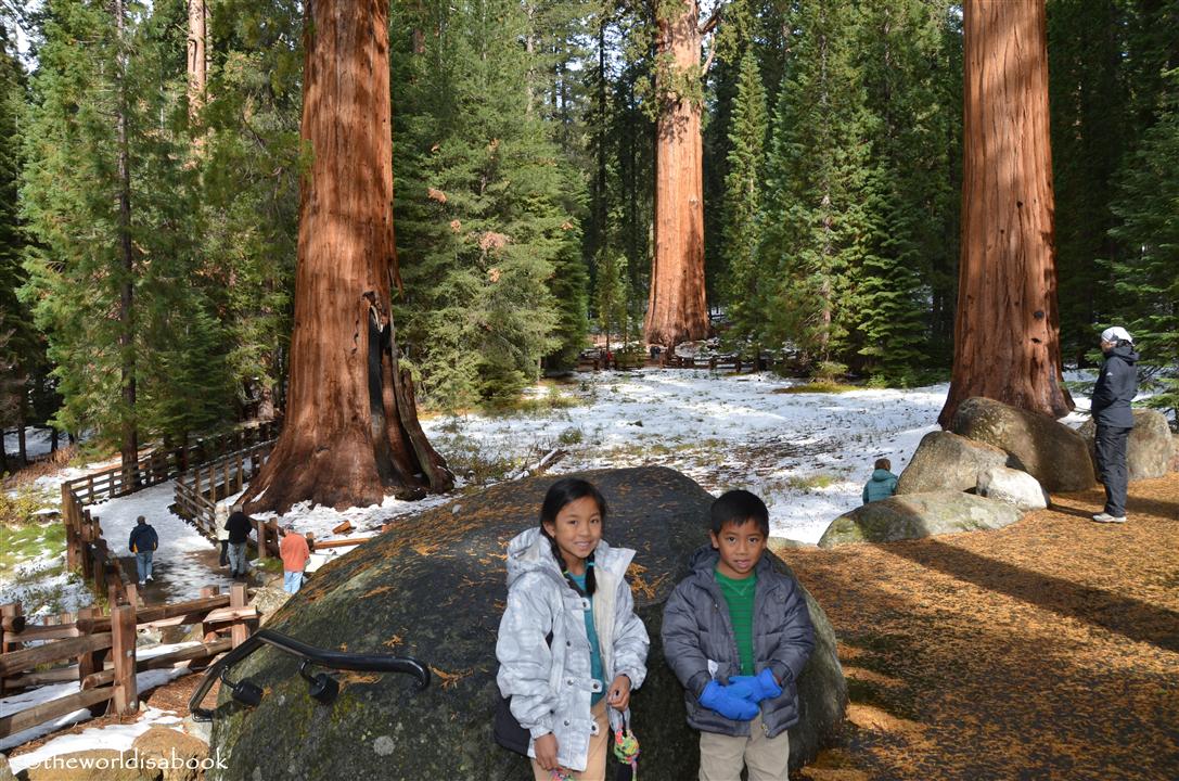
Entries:
[[[766, 315], [763, 296], [768, 276], [760, 268], [760, 209], [765, 136], [769, 117], [757, 57], [751, 48], [740, 59], [740, 78], [729, 130], [729, 175], [725, 177], [724, 257], [729, 320], [743, 343], [757, 341]], [[755, 355], [759, 353], [755, 343]]]

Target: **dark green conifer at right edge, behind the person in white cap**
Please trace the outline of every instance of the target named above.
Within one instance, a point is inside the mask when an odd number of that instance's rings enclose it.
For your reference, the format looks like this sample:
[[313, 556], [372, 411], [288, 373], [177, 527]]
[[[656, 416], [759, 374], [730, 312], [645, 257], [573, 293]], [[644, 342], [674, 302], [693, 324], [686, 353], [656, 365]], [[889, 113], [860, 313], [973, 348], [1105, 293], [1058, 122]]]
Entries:
[[1125, 324], [1134, 335], [1142, 366], [1161, 387], [1148, 403], [1179, 414], [1179, 68], [1167, 72], [1170, 93], [1158, 122], [1117, 179], [1112, 204], [1114, 238], [1135, 248], [1107, 261], [1115, 307], [1100, 309], [1099, 322]]

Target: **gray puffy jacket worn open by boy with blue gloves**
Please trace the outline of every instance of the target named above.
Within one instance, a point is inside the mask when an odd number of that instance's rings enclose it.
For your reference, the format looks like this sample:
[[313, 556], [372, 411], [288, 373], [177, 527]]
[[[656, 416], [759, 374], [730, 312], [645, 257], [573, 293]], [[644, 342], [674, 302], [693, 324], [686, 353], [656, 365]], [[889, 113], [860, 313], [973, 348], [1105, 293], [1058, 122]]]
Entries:
[[[740, 675], [740, 655], [713, 571], [719, 554], [705, 545], [692, 554], [692, 575], [676, 586], [664, 608], [663, 644], [667, 663], [684, 684], [687, 723], [720, 735], [749, 735], [747, 721], [732, 721], [700, 704], [709, 681]], [[753, 667], [782, 682], [782, 695], [762, 701], [762, 728], [770, 737], [798, 721], [798, 675], [815, 648], [815, 630], [802, 588], [782, 575], [768, 556], [757, 563], [753, 592]]]

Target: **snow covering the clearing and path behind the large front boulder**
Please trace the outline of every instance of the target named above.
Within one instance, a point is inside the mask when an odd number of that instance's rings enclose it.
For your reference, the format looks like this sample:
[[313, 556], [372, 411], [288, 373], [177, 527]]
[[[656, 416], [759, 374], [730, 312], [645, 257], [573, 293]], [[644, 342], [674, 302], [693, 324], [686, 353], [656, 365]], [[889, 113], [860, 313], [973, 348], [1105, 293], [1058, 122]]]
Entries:
[[[1092, 381], [1091, 372], [1068, 373], [1073, 382]], [[719, 494], [749, 488], [770, 508], [771, 533], [815, 543], [828, 524], [861, 503], [872, 461], [884, 457], [897, 474], [928, 432], [948, 385], [913, 389], [857, 389], [848, 393], [783, 393], [798, 380], [769, 373], [722, 375], [706, 369], [643, 369], [574, 375], [555, 388], [535, 387], [534, 398], [559, 395], [571, 401], [540, 412], [502, 415], [440, 415], [423, 428], [453, 466], [473, 461], [507, 464], [506, 471], [534, 464], [561, 447], [568, 455], [551, 474], [586, 468], [663, 465], [677, 468]], [[1088, 400], [1074, 393], [1079, 409]], [[1079, 425], [1087, 414], [1065, 421]], [[466, 475], [460, 473], [460, 488]], [[53, 478], [57, 479], [57, 478]], [[159, 533], [154, 566], [164, 576], [169, 600], [199, 596], [204, 585], [228, 585], [224, 570], [210, 570], [195, 554], [213, 543], [172, 514], [172, 481], [130, 497], [93, 505], [104, 536], [127, 556], [127, 537], [138, 516]], [[349, 520], [356, 536], [375, 533], [394, 518], [416, 514], [454, 495], [336, 511], [296, 505], [279, 518], [316, 539], [338, 537], [331, 530]], [[232, 498], [230, 498], [232, 501]], [[265, 514], [263, 517], [266, 517]], [[328, 549], [310, 569], [348, 547]]]

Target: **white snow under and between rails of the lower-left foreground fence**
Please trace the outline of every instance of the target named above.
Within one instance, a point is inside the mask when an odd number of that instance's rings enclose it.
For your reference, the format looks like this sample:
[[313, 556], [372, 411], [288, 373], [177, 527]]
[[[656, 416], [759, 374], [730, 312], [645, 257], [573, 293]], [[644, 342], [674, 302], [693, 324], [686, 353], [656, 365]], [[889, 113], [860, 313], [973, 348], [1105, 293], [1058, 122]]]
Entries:
[[[189, 645], [197, 645], [198, 643], [176, 643], [171, 645], [156, 645], [152, 648], [143, 648], [136, 650], [136, 657], [140, 659], [151, 658], [152, 656], [159, 656], [160, 654], [167, 654], [170, 651], [179, 650], [182, 648], [187, 648]], [[182, 675], [187, 674], [187, 665], [182, 665], [179, 668], [166, 668], [160, 670], [145, 670], [143, 672], [136, 674], [136, 684], [139, 691], [147, 691], [149, 689], [154, 689], [156, 687], [164, 685], [173, 678], [178, 678]], [[37, 689], [28, 689], [21, 691], [20, 694], [14, 694], [8, 697], [0, 700], [0, 710], [4, 711], [6, 716], [20, 713], [21, 710], [27, 710], [34, 705], [39, 705], [44, 702], [50, 702], [51, 700], [57, 700], [59, 697], [66, 697], [72, 694], [78, 693], [78, 683], [54, 683], [50, 685], [39, 687]], [[153, 713], [154, 711], [154, 713]], [[42, 735], [48, 735], [50, 733], [57, 731], [62, 727], [68, 727], [71, 724], [77, 724], [80, 721], [86, 721], [90, 718], [90, 710], [81, 708], [73, 713], [60, 716], [53, 721], [47, 721], [45, 723], [38, 724], [37, 727], [31, 727], [26, 730], [14, 733], [4, 739], [0, 739], [0, 750], [8, 750], [13, 747], [27, 743], [31, 740], [37, 740]], [[119, 731], [116, 730], [111, 733], [110, 729], [97, 730], [87, 729], [81, 735], [66, 735], [59, 737], [50, 743], [46, 743], [37, 752], [26, 754], [20, 757], [12, 757], [12, 769], [14, 773], [20, 773], [21, 769], [29, 767], [31, 764], [37, 764], [42, 761], [46, 756], [52, 756], [54, 754], [64, 754], [66, 752], [80, 752], [91, 748], [116, 748], [124, 750], [131, 748], [131, 741], [133, 741], [138, 735], [147, 731], [151, 723], [174, 723], [179, 722], [179, 718], [172, 717], [171, 722], [159, 721], [163, 718], [163, 711], [156, 710], [154, 708], [149, 708], [147, 713], [140, 716], [140, 718], [133, 724], [119, 726], [124, 730], [131, 731]], [[134, 731], [138, 730], [138, 731]], [[94, 741], [95, 735], [90, 735], [91, 733], [103, 733], [103, 741]], [[126, 735], [126, 746], [112, 746], [107, 742], [107, 739], [121, 740], [121, 736]], [[80, 744], [86, 743], [86, 744]], [[53, 750], [48, 750], [53, 746]], [[28, 759], [39, 757], [39, 759]], [[18, 761], [22, 764], [18, 767]]]

